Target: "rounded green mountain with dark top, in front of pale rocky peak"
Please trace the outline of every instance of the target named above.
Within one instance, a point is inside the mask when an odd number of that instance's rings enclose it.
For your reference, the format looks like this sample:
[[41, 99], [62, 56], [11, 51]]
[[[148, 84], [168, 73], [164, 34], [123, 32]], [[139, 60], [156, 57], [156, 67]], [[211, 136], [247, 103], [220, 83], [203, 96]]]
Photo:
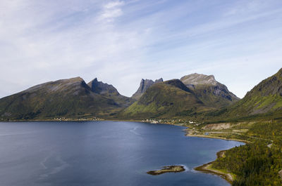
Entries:
[[177, 117], [207, 110], [203, 102], [180, 80], [154, 84], [122, 113], [122, 117]]

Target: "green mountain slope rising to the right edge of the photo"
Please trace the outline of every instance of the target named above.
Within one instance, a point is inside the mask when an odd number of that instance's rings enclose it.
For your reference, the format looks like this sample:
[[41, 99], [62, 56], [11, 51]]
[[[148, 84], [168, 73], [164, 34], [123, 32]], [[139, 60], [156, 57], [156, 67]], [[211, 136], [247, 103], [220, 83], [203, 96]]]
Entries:
[[207, 116], [215, 119], [235, 119], [279, 114], [282, 114], [282, 69], [252, 88], [242, 100]]

